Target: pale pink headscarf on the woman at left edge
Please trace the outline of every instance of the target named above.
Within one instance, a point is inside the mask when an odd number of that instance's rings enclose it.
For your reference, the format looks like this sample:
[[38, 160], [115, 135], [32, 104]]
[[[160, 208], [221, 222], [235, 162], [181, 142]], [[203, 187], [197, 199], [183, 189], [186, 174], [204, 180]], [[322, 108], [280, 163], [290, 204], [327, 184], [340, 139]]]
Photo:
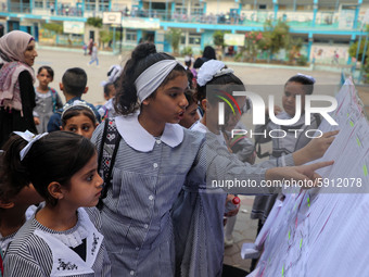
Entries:
[[33, 36], [22, 30], [12, 30], [0, 38], [0, 56], [5, 62], [25, 62], [24, 52]]

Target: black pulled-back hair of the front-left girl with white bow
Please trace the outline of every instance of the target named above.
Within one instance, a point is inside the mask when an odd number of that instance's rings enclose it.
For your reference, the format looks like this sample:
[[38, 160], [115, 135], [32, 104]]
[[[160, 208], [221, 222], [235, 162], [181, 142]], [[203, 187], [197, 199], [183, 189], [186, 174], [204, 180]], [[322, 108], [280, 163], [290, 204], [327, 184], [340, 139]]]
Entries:
[[[20, 152], [27, 141], [13, 135], [4, 146], [5, 177], [14, 186], [33, 184], [47, 203], [55, 205], [58, 200], [48, 191], [52, 181], [68, 188], [69, 180], [96, 154], [89, 139], [71, 131], [53, 131], [35, 141], [24, 160]], [[22, 189], [21, 188], [21, 189]]]

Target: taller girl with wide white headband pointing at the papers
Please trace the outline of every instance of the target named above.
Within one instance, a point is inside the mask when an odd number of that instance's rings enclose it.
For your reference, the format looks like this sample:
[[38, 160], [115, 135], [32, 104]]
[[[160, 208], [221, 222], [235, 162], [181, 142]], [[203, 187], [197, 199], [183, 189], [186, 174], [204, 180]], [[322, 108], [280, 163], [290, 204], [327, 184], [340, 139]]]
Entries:
[[175, 276], [175, 251], [180, 256], [182, 250], [175, 249], [170, 210], [184, 182], [198, 190], [206, 177], [314, 179], [315, 169], [331, 164], [266, 171], [237, 161], [212, 136], [205, 144], [204, 136], [178, 125], [188, 105], [184, 68], [154, 45], [133, 50], [118, 86], [118, 116], [92, 136], [105, 182], [102, 231], [113, 276]]

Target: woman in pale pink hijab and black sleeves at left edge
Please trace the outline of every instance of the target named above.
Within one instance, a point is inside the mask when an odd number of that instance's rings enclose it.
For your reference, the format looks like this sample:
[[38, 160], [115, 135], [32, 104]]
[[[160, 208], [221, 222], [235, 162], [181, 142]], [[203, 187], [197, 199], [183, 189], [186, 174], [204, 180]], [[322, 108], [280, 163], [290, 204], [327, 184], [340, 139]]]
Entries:
[[33, 110], [35, 39], [13, 30], [0, 38], [0, 147], [14, 130], [37, 134]]

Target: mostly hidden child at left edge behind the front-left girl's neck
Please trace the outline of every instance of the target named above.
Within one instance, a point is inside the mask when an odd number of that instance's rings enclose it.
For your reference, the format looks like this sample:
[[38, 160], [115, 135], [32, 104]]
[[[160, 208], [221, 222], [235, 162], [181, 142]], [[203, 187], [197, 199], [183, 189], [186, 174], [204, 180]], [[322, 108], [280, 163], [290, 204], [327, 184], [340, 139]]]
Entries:
[[10, 142], [5, 142], [3, 150], [0, 152], [0, 251], [5, 256], [15, 234], [36, 210], [34, 204], [43, 200], [22, 175], [25, 172], [17, 169], [18, 158], [13, 159]]

